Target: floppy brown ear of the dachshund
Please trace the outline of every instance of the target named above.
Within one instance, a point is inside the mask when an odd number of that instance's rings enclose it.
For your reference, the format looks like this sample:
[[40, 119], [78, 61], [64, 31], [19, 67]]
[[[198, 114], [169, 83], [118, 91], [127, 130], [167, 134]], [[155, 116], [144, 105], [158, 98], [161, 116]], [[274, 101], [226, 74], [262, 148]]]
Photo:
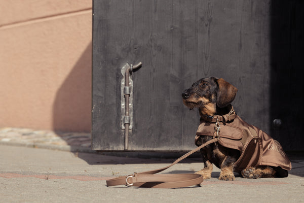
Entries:
[[226, 107], [235, 99], [238, 89], [222, 78], [215, 79], [215, 82], [218, 86], [216, 105], [219, 108]]

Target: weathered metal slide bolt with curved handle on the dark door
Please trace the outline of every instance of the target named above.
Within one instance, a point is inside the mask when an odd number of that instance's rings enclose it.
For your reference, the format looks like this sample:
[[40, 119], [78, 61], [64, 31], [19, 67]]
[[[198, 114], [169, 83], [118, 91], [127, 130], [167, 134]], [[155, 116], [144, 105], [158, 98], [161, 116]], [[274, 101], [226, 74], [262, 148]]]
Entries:
[[129, 130], [133, 127], [133, 81], [132, 72], [141, 67], [142, 63], [131, 66], [126, 63], [122, 67], [123, 79], [121, 81], [121, 127], [125, 130], [125, 150], [129, 148]]

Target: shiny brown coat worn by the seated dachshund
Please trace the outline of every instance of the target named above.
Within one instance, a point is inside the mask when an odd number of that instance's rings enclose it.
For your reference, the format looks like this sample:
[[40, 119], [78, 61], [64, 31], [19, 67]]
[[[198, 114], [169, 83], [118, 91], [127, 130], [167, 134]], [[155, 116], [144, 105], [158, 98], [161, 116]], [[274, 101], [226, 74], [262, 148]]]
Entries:
[[206, 116], [196, 133], [199, 136], [216, 137], [215, 124], [220, 125], [218, 143], [224, 147], [240, 151], [240, 158], [235, 163], [235, 172], [259, 165], [280, 166], [291, 170], [291, 163], [280, 143], [267, 133], [250, 125], [236, 115], [233, 107], [229, 114], [223, 116]]

